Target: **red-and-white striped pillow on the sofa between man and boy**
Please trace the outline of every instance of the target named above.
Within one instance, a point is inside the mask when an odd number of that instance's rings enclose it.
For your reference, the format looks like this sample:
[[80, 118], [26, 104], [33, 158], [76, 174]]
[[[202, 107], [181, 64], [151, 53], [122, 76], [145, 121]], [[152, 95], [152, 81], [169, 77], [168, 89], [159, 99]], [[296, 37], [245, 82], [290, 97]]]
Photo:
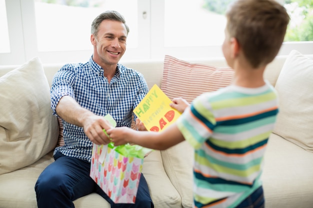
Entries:
[[229, 67], [189, 63], [165, 55], [161, 90], [169, 99], [182, 97], [190, 103], [203, 92], [229, 85], [233, 75], [234, 71]]

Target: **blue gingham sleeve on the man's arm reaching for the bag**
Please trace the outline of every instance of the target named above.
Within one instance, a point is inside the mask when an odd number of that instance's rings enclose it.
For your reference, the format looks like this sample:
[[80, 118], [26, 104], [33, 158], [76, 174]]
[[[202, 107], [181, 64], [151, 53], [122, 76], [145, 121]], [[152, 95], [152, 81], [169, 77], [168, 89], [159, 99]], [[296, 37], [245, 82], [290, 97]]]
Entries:
[[75, 99], [72, 88], [75, 77], [76, 74], [74, 72], [74, 67], [71, 64], [62, 66], [62, 68], [54, 75], [50, 89], [51, 109], [53, 111], [53, 115], [58, 117], [55, 109], [59, 100], [63, 96], [68, 95]]

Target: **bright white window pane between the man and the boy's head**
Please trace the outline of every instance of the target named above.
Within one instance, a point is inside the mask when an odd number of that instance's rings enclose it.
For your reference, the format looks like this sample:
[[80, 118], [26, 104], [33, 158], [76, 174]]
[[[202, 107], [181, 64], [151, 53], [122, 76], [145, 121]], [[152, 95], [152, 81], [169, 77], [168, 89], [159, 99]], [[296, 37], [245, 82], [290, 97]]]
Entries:
[[205, 8], [204, 0], [165, 0], [164, 3], [165, 47], [222, 44], [226, 18]]

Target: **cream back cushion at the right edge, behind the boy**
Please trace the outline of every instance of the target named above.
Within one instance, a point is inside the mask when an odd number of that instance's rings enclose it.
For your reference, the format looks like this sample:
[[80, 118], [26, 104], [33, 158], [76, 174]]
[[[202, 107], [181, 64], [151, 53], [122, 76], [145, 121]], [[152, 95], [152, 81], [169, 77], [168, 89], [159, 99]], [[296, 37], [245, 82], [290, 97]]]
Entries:
[[279, 114], [273, 132], [313, 152], [313, 59], [292, 50], [278, 76], [275, 89]]

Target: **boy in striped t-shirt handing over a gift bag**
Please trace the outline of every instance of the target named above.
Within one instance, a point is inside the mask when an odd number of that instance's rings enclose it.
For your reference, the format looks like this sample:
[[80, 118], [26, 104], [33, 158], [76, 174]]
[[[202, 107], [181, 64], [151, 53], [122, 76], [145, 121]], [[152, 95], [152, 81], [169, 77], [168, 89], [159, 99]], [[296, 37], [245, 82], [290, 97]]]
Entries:
[[235, 1], [226, 17], [222, 51], [235, 71], [230, 86], [204, 93], [190, 106], [173, 99], [171, 106], [183, 114], [162, 132], [106, 130], [115, 145], [163, 150], [187, 140], [195, 149], [195, 208], [263, 208], [263, 155], [278, 112], [263, 72], [279, 51], [289, 17], [274, 0]]

